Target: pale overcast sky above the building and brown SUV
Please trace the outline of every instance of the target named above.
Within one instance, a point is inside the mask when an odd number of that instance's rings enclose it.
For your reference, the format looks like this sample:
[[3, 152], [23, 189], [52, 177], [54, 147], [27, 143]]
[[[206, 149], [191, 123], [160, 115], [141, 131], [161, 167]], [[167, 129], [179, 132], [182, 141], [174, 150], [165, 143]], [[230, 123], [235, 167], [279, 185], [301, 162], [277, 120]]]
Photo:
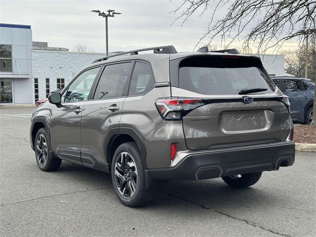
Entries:
[[[205, 32], [211, 6], [181, 26], [174, 10], [181, 0], [0, 0], [0, 22], [32, 25], [33, 41], [73, 49], [86, 44], [95, 52], [105, 51], [105, 20], [92, 9], [121, 12], [109, 18], [109, 51], [173, 44], [178, 51], [192, 51]], [[225, 9], [218, 12], [218, 17]], [[205, 43], [202, 42], [200, 46]], [[214, 42], [220, 44], [220, 41]], [[237, 45], [237, 43], [236, 43]], [[286, 44], [292, 47], [295, 44]]]

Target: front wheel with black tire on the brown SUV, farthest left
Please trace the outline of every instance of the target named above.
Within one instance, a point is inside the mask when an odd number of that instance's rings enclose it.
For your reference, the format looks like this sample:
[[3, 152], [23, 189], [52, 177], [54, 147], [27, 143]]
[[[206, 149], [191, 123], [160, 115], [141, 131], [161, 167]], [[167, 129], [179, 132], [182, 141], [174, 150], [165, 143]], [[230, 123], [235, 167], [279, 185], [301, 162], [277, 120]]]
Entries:
[[[38, 142], [40, 144], [40, 140], [45, 141], [46, 148], [44, 145], [42, 146], [41, 149], [40, 149], [40, 146], [39, 147], [37, 146]], [[40, 152], [40, 150], [42, 152]], [[35, 151], [36, 162], [42, 171], [55, 171], [59, 168], [61, 164], [61, 159], [55, 157], [53, 153], [51, 152], [49, 135], [45, 128], [40, 128], [40, 130], [36, 134], [35, 141], [34, 141], [34, 151]]]

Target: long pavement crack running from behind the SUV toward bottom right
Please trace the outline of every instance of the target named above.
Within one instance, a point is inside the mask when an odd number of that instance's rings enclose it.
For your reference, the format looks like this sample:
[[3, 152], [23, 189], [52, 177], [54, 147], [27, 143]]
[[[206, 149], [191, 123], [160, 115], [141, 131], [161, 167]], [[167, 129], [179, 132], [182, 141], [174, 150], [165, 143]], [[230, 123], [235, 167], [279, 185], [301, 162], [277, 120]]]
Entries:
[[205, 206], [205, 205], [203, 205], [203, 204], [196, 203], [196, 202], [194, 202], [194, 201], [192, 201], [192, 200], [189, 200], [189, 199], [186, 199], [186, 198], [183, 198], [183, 197], [175, 196], [175, 195], [173, 195], [173, 194], [171, 194], [171, 193], [168, 193], [168, 192], [165, 192], [165, 191], [164, 191], [164, 193], [167, 194], [167, 195], [169, 195], [170, 197], [175, 197], [175, 198], [181, 199], [181, 200], [183, 200], [183, 201], [186, 201], [186, 202], [191, 203], [192, 205], [196, 205], [196, 206], [199, 206], [199, 207], [201, 207], [201, 208], [203, 208], [203, 209], [216, 212], [216, 213], [218, 213], [218, 214], [227, 216], [227, 217], [232, 218], [232, 219], [234, 219], [234, 220], [243, 221], [243, 222], [246, 223], [247, 225], [250, 225], [250, 226], [253, 226], [253, 227], [257, 227], [257, 228], [260, 228], [260, 229], [265, 230], [265, 231], [269, 231], [269, 232], [271, 232], [271, 233], [273, 233], [273, 234], [276, 234], [276, 235], [279, 235], [279, 236], [291, 237], [291, 236], [289, 236], [289, 235], [285, 235], [285, 234], [279, 233], [279, 232], [277, 232], [277, 231], [271, 230], [271, 229], [269, 229], [269, 228], [267, 228], [267, 227], [261, 226], [261, 225], [259, 225], [258, 223], [254, 222], [254, 221], [249, 221], [249, 220], [246, 220], [246, 219], [241, 219], [241, 218], [234, 217], [234, 216], [232, 216], [232, 215], [230, 215], [230, 214], [227, 214], [227, 213], [225, 213], [225, 212], [222, 212], [222, 211], [219, 211], [219, 210], [215, 210], [215, 209], [211, 209], [211, 208], [209, 208], [209, 207], [207, 207], [207, 206]]

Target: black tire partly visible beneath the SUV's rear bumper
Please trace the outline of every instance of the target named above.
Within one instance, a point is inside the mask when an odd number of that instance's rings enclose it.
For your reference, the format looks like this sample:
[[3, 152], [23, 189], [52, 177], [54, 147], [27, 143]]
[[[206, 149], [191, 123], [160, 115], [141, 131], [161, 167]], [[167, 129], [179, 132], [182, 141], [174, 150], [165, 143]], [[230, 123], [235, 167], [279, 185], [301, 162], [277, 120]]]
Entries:
[[222, 179], [227, 183], [229, 186], [235, 188], [247, 188], [251, 185], [254, 185], [258, 182], [261, 177], [262, 172], [250, 173], [250, 174], [241, 174], [241, 177], [236, 176], [228, 176], [223, 177]]

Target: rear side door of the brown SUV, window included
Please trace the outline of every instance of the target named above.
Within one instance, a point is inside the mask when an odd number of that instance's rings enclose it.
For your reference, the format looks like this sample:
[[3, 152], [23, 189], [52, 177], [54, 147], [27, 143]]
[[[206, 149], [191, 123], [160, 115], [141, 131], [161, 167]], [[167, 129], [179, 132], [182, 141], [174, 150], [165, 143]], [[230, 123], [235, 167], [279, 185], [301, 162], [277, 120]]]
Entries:
[[106, 148], [112, 135], [118, 134], [132, 66], [132, 61], [106, 65], [93, 99], [84, 105], [81, 117], [81, 160], [84, 166], [107, 169]]

